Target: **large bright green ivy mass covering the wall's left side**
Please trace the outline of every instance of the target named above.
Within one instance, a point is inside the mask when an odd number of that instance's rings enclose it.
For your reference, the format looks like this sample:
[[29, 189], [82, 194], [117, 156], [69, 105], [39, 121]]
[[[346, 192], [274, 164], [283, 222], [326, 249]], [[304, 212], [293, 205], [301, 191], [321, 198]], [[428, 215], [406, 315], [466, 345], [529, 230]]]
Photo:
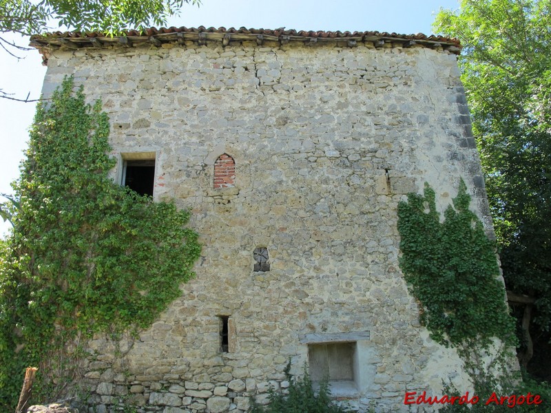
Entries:
[[40, 367], [34, 390], [51, 392], [59, 377], [48, 376], [71, 366], [79, 339], [152, 324], [200, 254], [189, 211], [109, 177], [107, 114], [74, 89], [65, 79], [37, 109], [13, 229], [0, 242], [2, 411], [17, 403], [26, 366]]

